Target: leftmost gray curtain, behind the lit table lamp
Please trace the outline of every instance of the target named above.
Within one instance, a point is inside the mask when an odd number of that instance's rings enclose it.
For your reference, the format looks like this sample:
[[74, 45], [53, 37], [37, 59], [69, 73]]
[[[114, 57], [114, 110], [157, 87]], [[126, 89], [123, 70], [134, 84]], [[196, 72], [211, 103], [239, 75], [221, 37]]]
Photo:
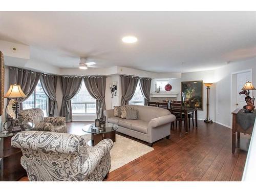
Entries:
[[35, 90], [41, 73], [19, 68], [10, 68], [9, 75], [9, 83], [19, 84], [20, 88], [22, 88], [22, 91], [27, 95], [26, 98], [18, 98], [18, 103], [20, 103], [20, 110], [22, 110], [22, 102], [28, 99]]

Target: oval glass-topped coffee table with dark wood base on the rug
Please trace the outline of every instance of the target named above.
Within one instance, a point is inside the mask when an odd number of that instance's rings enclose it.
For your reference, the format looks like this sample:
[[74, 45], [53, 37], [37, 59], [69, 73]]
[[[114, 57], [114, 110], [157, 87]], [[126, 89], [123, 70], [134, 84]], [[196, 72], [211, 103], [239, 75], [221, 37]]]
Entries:
[[87, 143], [89, 146], [95, 146], [103, 139], [111, 139], [116, 141], [116, 130], [118, 125], [113, 123], [105, 123], [104, 128], [95, 127], [94, 123], [86, 125], [82, 128], [82, 131], [91, 133], [91, 140]]

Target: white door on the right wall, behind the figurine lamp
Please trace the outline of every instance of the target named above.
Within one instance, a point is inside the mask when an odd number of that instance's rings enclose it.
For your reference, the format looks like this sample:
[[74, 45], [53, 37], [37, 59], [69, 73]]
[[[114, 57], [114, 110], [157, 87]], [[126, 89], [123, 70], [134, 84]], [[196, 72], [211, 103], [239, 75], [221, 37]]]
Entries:
[[242, 91], [242, 88], [244, 87], [244, 84], [246, 81], [251, 81], [251, 72], [244, 72], [244, 73], [238, 73], [237, 74], [237, 108], [243, 108], [244, 105], [246, 105], [245, 102], [245, 95], [239, 95], [239, 92]]

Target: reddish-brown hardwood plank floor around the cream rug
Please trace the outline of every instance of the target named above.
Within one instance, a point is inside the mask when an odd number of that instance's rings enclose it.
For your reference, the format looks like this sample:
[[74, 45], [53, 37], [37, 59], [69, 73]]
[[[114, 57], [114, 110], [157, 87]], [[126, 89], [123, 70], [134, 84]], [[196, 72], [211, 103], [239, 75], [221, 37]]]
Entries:
[[[82, 135], [85, 124], [67, 123], [68, 132]], [[231, 129], [217, 123], [199, 121], [188, 134], [184, 127], [170, 133], [170, 139], [157, 141], [154, 151], [116, 169], [106, 181], [241, 181], [248, 136], [241, 134], [241, 149], [232, 154]]]

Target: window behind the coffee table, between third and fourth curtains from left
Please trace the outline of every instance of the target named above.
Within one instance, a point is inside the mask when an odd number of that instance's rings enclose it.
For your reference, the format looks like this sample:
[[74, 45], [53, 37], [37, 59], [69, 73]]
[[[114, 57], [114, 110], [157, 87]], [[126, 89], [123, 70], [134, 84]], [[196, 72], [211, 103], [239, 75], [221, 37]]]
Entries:
[[71, 105], [73, 114], [96, 114], [96, 100], [89, 94], [83, 81], [78, 94], [71, 99]]

